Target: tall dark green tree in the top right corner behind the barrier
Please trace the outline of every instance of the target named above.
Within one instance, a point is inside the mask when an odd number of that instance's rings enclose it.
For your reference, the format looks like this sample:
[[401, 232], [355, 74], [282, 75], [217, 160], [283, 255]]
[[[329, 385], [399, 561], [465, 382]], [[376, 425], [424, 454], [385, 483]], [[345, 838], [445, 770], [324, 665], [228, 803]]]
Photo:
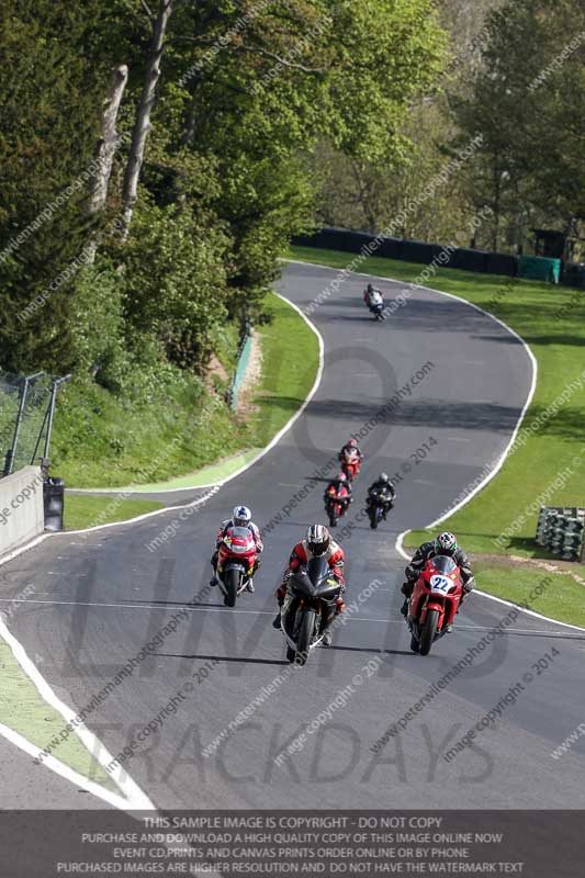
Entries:
[[470, 188], [495, 222], [525, 211], [570, 229], [585, 221], [585, 8], [514, 0], [488, 31], [473, 93], [455, 102], [463, 136], [484, 135]]

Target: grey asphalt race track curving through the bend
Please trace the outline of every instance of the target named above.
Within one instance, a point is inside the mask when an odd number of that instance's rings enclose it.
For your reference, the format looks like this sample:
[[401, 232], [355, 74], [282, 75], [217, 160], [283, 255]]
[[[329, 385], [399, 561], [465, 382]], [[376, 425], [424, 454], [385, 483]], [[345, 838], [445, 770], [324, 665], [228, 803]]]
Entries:
[[[291, 264], [279, 290], [305, 307], [334, 277]], [[126, 763], [161, 808], [583, 807], [583, 745], [559, 761], [550, 752], [582, 721], [570, 682], [581, 672], [585, 640], [522, 615], [480, 653], [476, 644], [508, 608], [474, 596], [455, 632], [421, 658], [410, 654], [398, 614], [404, 560], [394, 548], [397, 534], [439, 517], [503, 453], [530, 391], [529, 358], [488, 315], [432, 291], [417, 290], [375, 324], [361, 302], [363, 283], [350, 279], [312, 315], [325, 341], [323, 379], [274, 448], [170, 527], [154, 551], [147, 545], [177, 520], [176, 510], [85, 537], [61, 534], [4, 566], [2, 597], [10, 599], [23, 583], [36, 588], [11, 630], [31, 655], [41, 654], [58, 694], [82, 707], [173, 614], [184, 612], [176, 633], [88, 721], [116, 754], [209, 664], [209, 676], [189, 697], [177, 696], [176, 712]], [[383, 284], [389, 297], [402, 286]], [[271, 628], [273, 587], [306, 525], [323, 519], [320, 483], [294, 506], [291, 497], [372, 419], [361, 443], [365, 465], [356, 502], [337, 529], [345, 534], [348, 600], [358, 600], [358, 608], [331, 650], [312, 655], [267, 696], [288, 667], [282, 637]], [[417, 464], [409, 455], [430, 440]], [[373, 532], [358, 514], [380, 470], [403, 481], [391, 521]], [[171, 502], [194, 497], [185, 492]], [[217, 524], [240, 502], [269, 527], [257, 593], [230, 611], [205, 584]], [[202, 597], [185, 609], [198, 593]], [[446, 762], [445, 751], [553, 646], [552, 666], [535, 672], [495, 728]], [[471, 665], [430, 696], [431, 684], [473, 648]], [[381, 664], [369, 677], [373, 660]], [[345, 706], [331, 708], [342, 689]], [[425, 696], [427, 703], [415, 709]], [[255, 698], [263, 700], [255, 706]], [[205, 746], [246, 708], [247, 722], [204, 757]], [[410, 708], [405, 731], [373, 753], [374, 742]], [[313, 720], [303, 747], [277, 764], [286, 742]]]

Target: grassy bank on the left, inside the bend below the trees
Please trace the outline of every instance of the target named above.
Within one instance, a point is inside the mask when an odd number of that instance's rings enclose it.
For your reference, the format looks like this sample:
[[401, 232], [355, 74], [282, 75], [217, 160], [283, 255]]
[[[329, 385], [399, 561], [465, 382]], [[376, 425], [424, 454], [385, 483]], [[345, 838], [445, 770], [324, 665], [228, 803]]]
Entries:
[[272, 293], [267, 309], [273, 322], [259, 327], [263, 359], [254, 414], [235, 416], [189, 375], [164, 398], [134, 404], [95, 385], [71, 384], [55, 419], [53, 472], [68, 487], [137, 489], [179, 476], [194, 484], [203, 468], [218, 462], [223, 475], [235, 472], [241, 454], [262, 448], [301, 405], [318, 364], [317, 338], [296, 311]]

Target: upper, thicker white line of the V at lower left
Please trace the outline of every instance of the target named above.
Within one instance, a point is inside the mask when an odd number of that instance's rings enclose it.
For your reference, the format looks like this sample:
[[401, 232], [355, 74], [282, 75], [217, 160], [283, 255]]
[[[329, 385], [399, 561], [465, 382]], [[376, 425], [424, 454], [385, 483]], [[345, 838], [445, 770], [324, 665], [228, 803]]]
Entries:
[[[58, 698], [46, 679], [43, 677], [36, 665], [31, 661], [29, 657], [24, 646], [9, 631], [4, 621], [0, 619], [0, 637], [8, 643], [10, 646], [12, 654], [21, 668], [24, 673], [30, 677], [32, 683], [35, 685], [36, 689], [41, 697], [53, 707], [58, 713], [61, 714], [64, 720], [69, 724], [77, 713], [68, 707], [64, 701]], [[86, 725], [77, 725], [75, 728], [75, 732], [81, 742], [87, 747], [90, 755], [97, 759], [102, 768], [106, 770], [106, 766], [113, 762], [112, 754], [104, 747], [101, 741], [93, 734]], [[41, 747], [36, 750], [36, 755], [41, 753]], [[45, 759], [43, 759], [44, 762]], [[150, 799], [146, 796], [145, 792], [138, 787], [138, 785], [130, 777], [127, 772], [122, 770], [120, 777], [114, 777], [111, 773], [108, 773], [110, 777], [114, 780], [114, 783], [120, 787], [125, 799], [125, 807], [126, 808], [135, 808], [139, 810], [156, 810], [156, 807], [153, 804]], [[89, 781], [91, 783], [91, 781]], [[101, 788], [100, 788], [101, 789]], [[106, 790], [105, 790], [106, 791]], [[122, 797], [116, 797], [122, 799]], [[116, 804], [116, 807], [119, 807]]]

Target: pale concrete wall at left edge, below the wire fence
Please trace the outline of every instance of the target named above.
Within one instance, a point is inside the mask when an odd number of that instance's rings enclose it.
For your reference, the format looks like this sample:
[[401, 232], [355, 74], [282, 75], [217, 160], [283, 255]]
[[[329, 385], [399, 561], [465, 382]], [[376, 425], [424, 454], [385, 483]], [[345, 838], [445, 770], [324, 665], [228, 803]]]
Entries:
[[45, 527], [40, 466], [0, 479], [0, 558], [34, 539]]

